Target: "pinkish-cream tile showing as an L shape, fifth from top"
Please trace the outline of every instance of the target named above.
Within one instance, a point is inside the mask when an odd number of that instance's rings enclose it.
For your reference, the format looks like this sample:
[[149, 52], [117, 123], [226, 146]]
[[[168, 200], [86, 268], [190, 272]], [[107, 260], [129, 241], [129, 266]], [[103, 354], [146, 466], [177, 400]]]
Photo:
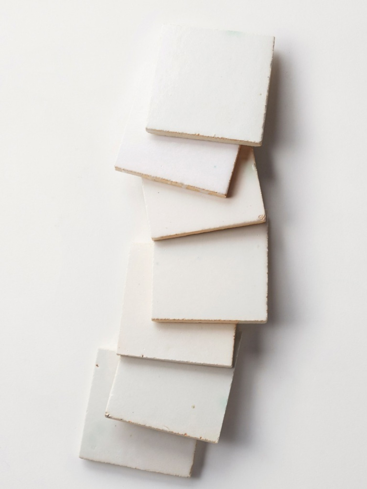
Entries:
[[133, 244], [127, 267], [117, 353], [231, 367], [233, 324], [152, 321], [153, 243]]

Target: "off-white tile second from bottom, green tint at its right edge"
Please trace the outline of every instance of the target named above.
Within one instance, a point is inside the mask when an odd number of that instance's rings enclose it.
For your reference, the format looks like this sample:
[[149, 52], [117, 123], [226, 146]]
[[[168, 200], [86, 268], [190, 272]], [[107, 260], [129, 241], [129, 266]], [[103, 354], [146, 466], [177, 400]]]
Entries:
[[106, 416], [218, 443], [233, 372], [121, 356]]

